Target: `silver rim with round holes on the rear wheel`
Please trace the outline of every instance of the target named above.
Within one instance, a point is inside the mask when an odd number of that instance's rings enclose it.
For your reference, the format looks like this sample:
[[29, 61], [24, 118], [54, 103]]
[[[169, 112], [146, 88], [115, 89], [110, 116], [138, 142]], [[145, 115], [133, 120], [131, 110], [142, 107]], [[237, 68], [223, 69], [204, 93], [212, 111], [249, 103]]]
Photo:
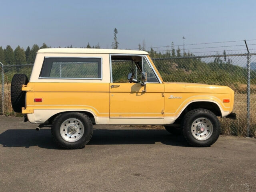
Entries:
[[65, 141], [75, 142], [84, 134], [84, 125], [76, 118], [65, 120], [60, 126], [60, 135]]

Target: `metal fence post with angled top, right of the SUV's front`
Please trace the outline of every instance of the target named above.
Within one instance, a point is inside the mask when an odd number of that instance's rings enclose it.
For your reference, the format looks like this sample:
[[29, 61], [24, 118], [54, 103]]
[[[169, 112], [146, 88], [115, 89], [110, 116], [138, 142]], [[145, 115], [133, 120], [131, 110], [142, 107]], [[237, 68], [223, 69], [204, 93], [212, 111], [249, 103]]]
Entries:
[[244, 40], [246, 48], [247, 48], [247, 124], [246, 124], [246, 137], [250, 136], [250, 80], [251, 80], [251, 69], [250, 69], [250, 52], [248, 50], [248, 46], [246, 40]]

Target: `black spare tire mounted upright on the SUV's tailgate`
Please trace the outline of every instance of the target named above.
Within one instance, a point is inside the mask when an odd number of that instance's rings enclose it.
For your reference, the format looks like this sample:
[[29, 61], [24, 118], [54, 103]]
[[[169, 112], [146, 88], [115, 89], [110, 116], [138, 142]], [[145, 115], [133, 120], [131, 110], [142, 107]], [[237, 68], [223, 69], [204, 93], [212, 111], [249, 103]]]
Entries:
[[22, 91], [22, 85], [28, 84], [28, 77], [25, 74], [15, 74], [11, 84], [12, 108], [20, 113], [21, 108], [26, 106], [26, 92]]

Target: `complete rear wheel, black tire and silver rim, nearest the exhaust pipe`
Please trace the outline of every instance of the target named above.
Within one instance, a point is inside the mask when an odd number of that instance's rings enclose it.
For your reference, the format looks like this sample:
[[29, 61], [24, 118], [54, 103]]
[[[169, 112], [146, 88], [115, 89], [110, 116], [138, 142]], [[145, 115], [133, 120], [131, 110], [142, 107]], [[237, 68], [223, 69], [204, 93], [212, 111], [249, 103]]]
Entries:
[[61, 148], [83, 148], [92, 137], [92, 121], [82, 113], [60, 114], [53, 121], [52, 136]]

